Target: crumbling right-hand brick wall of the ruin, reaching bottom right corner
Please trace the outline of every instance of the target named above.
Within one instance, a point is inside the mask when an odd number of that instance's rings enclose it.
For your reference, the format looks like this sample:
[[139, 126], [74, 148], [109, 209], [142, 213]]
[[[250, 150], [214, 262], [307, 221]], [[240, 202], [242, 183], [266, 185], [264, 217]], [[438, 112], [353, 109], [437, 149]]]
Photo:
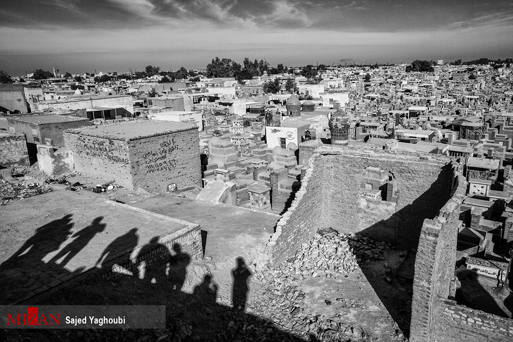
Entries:
[[411, 342], [469, 342], [513, 340], [513, 320], [473, 310], [448, 299], [456, 263], [459, 207], [466, 184], [433, 220], [422, 227], [413, 279]]

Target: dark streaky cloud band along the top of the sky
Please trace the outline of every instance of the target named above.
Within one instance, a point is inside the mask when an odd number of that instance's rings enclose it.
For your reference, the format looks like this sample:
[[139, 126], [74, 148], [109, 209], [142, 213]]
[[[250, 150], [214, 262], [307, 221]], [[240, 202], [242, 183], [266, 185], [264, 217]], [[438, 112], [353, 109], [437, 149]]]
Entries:
[[400, 32], [505, 25], [512, 16], [503, 0], [16, 0], [3, 4], [0, 26], [116, 29], [198, 20], [234, 29]]

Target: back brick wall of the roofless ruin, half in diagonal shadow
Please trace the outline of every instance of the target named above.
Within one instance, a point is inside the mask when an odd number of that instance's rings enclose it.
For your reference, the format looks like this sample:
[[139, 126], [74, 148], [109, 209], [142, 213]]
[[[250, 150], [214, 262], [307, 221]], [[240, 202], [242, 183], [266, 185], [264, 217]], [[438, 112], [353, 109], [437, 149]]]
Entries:
[[[363, 150], [360, 146], [323, 147], [320, 151], [327, 170], [323, 181], [330, 184], [324, 193], [326, 227], [343, 233], [379, 232], [381, 239], [415, 248], [424, 219], [435, 217], [449, 199], [454, 171], [443, 156]], [[400, 190], [395, 214], [390, 215], [390, 203], [362, 206], [362, 171], [371, 166], [390, 171], [397, 179]]]

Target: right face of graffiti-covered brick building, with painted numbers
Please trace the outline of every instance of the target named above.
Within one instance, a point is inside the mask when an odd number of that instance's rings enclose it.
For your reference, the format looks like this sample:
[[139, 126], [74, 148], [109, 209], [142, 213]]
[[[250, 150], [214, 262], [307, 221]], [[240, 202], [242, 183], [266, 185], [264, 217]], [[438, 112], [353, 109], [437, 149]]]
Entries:
[[201, 160], [198, 129], [130, 140], [130, 162], [134, 188], [164, 192], [176, 183], [178, 188], [201, 186]]

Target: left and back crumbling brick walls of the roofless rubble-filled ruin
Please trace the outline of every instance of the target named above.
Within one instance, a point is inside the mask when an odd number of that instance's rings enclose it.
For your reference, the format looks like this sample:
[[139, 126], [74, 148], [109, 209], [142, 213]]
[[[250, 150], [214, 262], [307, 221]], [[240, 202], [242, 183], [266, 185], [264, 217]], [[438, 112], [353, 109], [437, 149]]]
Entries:
[[[322, 146], [308, 163], [301, 189], [270, 240], [271, 266], [291, 257], [317, 229], [327, 227], [345, 234], [364, 231], [416, 248], [424, 219], [436, 217], [454, 180], [453, 167], [444, 156], [363, 150], [361, 145]], [[379, 206], [369, 200], [362, 208], [360, 182], [368, 166], [390, 171], [398, 180], [397, 205]]]

